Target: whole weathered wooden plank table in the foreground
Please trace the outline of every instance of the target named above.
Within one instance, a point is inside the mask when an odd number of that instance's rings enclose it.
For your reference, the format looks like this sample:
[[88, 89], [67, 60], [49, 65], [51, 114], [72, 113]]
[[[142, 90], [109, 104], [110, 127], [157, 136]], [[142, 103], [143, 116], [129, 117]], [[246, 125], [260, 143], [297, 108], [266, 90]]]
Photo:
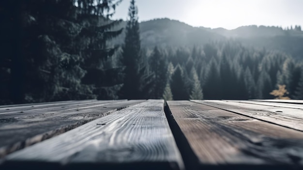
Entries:
[[0, 170], [300, 170], [300, 100], [0, 106]]

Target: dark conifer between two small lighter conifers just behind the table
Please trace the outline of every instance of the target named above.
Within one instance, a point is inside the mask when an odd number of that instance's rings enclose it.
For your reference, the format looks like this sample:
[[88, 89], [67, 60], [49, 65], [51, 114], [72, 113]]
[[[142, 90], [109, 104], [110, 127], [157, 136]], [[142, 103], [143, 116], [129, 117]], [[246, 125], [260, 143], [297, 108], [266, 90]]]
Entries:
[[171, 92], [174, 100], [188, 100], [189, 95], [184, 82], [184, 73], [182, 67], [178, 64], [171, 77]]

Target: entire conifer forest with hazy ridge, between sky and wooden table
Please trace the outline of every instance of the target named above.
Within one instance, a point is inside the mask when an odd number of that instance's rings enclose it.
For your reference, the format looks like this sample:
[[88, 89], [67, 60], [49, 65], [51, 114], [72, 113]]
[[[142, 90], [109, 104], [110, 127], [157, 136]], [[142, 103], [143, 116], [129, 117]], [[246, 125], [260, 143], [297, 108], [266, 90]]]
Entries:
[[80, 99], [303, 99], [300, 26], [113, 20], [121, 0], [2, 0], [0, 105]]

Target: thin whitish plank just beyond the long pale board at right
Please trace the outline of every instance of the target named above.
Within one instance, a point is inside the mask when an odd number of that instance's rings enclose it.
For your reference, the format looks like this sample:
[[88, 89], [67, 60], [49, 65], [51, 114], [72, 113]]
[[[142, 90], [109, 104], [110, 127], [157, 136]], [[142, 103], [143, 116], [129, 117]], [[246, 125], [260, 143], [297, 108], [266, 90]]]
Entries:
[[252, 100], [225, 100], [229, 102], [239, 102], [239, 103], [249, 103], [256, 105], [265, 105], [265, 106], [275, 106], [282, 108], [298, 108], [303, 110], [303, 105], [292, 104], [292, 103], [275, 103], [275, 102], [260, 102], [260, 101], [252, 101]]

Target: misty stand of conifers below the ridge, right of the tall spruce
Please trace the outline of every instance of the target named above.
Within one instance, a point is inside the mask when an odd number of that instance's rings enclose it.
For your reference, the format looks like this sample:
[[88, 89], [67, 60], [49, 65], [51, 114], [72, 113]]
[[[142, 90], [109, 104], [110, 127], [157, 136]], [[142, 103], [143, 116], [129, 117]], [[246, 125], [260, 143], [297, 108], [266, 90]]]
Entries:
[[[303, 99], [302, 63], [284, 53], [248, 48], [235, 41], [160, 51], [156, 47], [147, 58], [164, 56], [167, 89], [175, 100], [273, 99], [270, 93], [278, 85], [286, 85], [291, 99]], [[203, 95], [197, 95], [200, 91]]]

